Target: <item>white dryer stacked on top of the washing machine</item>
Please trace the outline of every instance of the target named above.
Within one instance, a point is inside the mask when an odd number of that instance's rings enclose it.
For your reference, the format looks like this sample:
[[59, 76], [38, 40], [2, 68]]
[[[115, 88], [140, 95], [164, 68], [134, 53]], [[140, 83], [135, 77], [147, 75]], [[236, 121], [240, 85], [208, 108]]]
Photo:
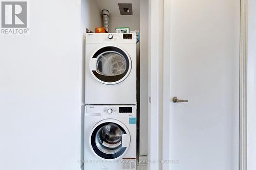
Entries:
[[86, 35], [86, 104], [136, 104], [136, 34]]

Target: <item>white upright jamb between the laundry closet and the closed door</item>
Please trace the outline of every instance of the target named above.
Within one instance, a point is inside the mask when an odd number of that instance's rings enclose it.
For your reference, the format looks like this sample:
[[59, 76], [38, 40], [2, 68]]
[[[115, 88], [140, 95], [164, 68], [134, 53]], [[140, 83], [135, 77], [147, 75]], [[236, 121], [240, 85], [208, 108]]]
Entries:
[[163, 5], [163, 0], [148, 1], [148, 170], [160, 169], [155, 161], [161, 157]]

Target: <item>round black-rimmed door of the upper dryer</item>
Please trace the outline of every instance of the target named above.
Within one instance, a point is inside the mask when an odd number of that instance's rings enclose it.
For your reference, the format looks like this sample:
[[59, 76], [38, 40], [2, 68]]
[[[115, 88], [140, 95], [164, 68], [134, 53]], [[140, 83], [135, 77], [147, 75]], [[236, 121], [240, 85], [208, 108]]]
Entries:
[[[95, 61], [96, 60], [96, 61]], [[131, 71], [131, 59], [123, 50], [115, 46], [100, 48], [92, 57], [91, 67], [93, 76], [104, 84], [122, 82]]]

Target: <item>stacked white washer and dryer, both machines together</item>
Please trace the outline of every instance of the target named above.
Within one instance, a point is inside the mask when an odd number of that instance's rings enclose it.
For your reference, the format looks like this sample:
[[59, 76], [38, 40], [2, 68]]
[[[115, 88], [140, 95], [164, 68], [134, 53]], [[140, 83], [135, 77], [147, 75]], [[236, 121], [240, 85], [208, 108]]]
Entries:
[[86, 35], [84, 169], [136, 169], [136, 34]]

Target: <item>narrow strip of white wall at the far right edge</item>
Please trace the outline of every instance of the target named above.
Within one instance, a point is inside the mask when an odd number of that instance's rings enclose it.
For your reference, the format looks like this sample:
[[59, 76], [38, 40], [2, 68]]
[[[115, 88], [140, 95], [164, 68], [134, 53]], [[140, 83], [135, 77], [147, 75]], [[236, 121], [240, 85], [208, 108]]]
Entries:
[[256, 1], [248, 0], [248, 170], [256, 169]]

